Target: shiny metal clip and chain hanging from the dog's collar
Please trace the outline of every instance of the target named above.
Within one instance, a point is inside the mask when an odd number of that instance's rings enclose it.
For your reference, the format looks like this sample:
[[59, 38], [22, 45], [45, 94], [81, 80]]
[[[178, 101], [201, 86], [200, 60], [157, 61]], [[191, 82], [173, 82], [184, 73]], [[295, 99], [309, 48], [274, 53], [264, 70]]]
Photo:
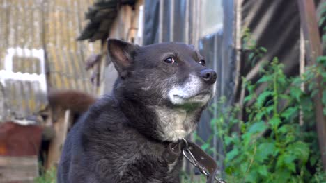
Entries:
[[[185, 148], [183, 148], [183, 156], [192, 164], [194, 167], [198, 168], [203, 175], [206, 175], [207, 177], [210, 176], [210, 173], [208, 170], [204, 167], [201, 166], [201, 164], [198, 163], [197, 159], [192, 155], [192, 152], [188, 148], [188, 142], [186, 139], [183, 139], [185, 142]], [[217, 178], [214, 177], [217, 183], [226, 183], [222, 178]]]

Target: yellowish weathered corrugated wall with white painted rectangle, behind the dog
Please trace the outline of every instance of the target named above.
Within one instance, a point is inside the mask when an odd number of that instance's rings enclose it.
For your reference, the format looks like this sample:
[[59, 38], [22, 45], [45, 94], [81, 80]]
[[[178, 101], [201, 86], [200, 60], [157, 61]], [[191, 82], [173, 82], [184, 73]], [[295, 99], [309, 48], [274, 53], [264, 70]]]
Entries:
[[100, 42], [76, 40], [93, 1], [0, 0], [0, 112], [13, 106], [15, 113], [1, 112], [0, 121], [42, 110], [48, 89], [95, 94], [84, 62], [100, 52]]

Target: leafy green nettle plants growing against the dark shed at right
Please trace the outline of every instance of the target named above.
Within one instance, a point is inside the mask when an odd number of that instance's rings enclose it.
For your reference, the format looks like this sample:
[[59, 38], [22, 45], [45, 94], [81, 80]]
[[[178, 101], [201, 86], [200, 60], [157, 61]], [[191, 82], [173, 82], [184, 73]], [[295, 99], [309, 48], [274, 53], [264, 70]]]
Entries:
[[[267, 51], [257, 48], [249, 30], [244, 32], [243, 41], [250, 62], [256, 62]], [[244, 121], [238, 119], [239, 107], [222, 107], [225, 98], [212, 106], [218, 114], [211, 121], [213, 135], [224, 143], [224, 155], [219, 155], [223, 160], [218, 163], [224, 167], [227, 182], [326, 182], [313, 103], [313, 96], [321, 89], [326, 115], [326, 56], [306, 67], [301, 77], [288, 77], [283, 69], [284, 65], [274, 58], [261, 67], [258, 81], [242, 79], [247, 91]], [[320, 85], [317, 77], [323, 78]], [[259, 94], [258, 86], [262, 89]], [[196, 139], [208, 152], [215, 150], [210, 148], [212, 138], [206, 142]]]

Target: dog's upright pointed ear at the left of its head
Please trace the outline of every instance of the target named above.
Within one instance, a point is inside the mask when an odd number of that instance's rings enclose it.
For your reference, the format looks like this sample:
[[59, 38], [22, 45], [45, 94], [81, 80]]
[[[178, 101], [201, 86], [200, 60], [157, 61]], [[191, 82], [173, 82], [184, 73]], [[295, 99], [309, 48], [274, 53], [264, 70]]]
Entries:
[[127, 76], [127, 68], [132, 66], [134, 62], [134, 52], [138, 48], [138, 45], [130, 44], [122, 40], [107, 40], [109, 56], [121, 78], [125, 78]]

